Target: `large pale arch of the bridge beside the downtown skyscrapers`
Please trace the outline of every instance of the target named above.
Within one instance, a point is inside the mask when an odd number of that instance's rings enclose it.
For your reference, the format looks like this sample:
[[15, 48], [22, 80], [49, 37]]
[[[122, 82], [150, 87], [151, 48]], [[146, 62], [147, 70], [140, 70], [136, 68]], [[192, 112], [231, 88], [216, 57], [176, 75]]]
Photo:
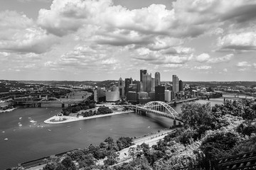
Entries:
[[178, 116], [178, 113], [174, 110], [174, 108], [171, 108], [171, 106], [169, 106], [167, 103], [163, 101], [150, 101], [149, 103], [146, 103], [144, 105], [144, 108], [150, 108], [154, 110], [156, 106], [163, 106], [166, 109], [167, 113], [174, 118], [174, 120]]

